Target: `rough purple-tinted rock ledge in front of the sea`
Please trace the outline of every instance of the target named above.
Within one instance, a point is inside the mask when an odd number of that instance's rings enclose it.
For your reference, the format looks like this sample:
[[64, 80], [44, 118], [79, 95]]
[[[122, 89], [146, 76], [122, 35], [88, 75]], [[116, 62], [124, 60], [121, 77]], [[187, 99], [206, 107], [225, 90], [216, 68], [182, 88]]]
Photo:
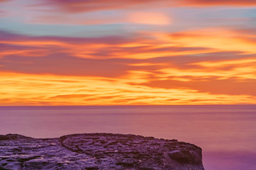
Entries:
[[35, 139], [0, 135], [0, 170], [203, 170], [202, 150], [177, 140], [107, 133]]

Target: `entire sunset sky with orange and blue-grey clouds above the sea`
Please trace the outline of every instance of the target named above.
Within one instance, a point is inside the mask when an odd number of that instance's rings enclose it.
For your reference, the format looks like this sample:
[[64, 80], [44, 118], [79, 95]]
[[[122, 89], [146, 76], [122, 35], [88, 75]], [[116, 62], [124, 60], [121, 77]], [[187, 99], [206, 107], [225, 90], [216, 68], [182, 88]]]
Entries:
[[0, 106], [256, 104], [255, 0], [0, 0]]

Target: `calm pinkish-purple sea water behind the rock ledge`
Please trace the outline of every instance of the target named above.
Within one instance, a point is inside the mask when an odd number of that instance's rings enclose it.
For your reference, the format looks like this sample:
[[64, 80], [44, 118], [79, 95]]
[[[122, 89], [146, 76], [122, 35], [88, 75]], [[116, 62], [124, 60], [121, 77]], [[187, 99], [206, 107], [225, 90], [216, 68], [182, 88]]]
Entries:
[[203, 149], [206, 170], [256, 169], [256, 106], [0, 107], [0, 134], [112, 132], [177, 139]]

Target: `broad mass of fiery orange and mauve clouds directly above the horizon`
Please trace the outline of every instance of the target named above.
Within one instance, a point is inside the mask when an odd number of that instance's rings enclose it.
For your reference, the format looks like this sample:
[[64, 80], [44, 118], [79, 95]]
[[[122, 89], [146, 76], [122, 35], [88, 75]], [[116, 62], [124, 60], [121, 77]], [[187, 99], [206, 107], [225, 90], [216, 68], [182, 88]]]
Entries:
[[247, 32], [2, 37], [2, 106], [256, 103], [256, 42]]

